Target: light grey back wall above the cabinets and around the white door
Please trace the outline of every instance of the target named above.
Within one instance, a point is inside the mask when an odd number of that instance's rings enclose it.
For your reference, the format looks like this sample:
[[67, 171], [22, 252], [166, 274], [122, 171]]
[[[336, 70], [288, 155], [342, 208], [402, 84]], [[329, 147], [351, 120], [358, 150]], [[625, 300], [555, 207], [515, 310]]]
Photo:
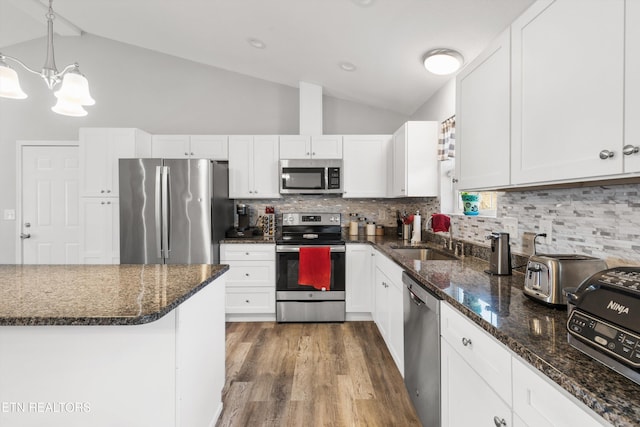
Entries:
[[[31, 67], [45, 59], [44, 39], [3, 48]], [[77, 139], [80, 127], [137, 127], [150, 133], [297, 134], [298, 89], [83, 35], [56, 37], [58, 68], [78, 61], [96, 105], [84, 118], [50, 111], [44, 82], [16, 70], [25, 100], [0, 98], [0, 263], [15, 262], [15, 221], [2, 219], [16, 200], [18, 140]], [[324, 132], [392, 133], [407, 117], [324, 97]]]

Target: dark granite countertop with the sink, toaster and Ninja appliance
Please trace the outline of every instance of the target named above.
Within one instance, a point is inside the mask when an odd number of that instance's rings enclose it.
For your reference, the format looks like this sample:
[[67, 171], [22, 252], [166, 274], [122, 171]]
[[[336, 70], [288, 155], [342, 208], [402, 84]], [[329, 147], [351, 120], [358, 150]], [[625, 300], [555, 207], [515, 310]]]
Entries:
[[[488, 262], [415, 261], [394, 252], [410, 246], [397, 237], [351, 237], [369, 243], [400, 264], [414, 279], [494, 336], [530, 365], [615, 426], [640, 425], [640, 385], [589, 358], [567, 343], [567, 312], [538, 304], [523, 292], [524, 275], [491, 276]], [[414, 245], [432, 247], [431, 244]]]

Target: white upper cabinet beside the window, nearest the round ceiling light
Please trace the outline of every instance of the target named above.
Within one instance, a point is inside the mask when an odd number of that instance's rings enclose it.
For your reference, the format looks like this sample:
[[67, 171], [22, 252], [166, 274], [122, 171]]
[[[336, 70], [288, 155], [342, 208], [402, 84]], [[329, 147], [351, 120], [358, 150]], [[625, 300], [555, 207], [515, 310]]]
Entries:
[[456, 81], [456, 167], [462, 190], [509, 185], [511, 32], [503, 32]]

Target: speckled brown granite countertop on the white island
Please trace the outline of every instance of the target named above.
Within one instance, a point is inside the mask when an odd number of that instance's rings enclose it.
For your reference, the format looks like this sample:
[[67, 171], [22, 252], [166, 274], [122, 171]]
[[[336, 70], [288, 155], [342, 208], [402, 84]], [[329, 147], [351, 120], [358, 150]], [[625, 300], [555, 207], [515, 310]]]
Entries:
[[227, 265], [0, 265], [0, 326], [148, 323], [228, 269]]

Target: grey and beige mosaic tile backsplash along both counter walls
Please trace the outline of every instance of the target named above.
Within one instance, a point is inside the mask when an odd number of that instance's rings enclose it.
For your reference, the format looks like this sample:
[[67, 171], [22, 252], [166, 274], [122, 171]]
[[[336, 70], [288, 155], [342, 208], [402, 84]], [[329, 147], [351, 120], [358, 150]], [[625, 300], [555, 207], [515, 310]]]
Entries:
[[[640, 184], [498, 193], [497, 218], [453, 215], [451, 237], [489, 246], [486, 236], [504, 231], [504, 218], [518, 220], [518, 234], [510, 236], [512, 252], [529, 255], [523, 246], [525, 232], [540, 232], [540, 220], [551, 221], [551, 243], [538, 239], [538, 252], [579, 253], [603, 258], [610, 267], [640, 265]], [[251, 207], [252, 222], [275, 206], [282, 212], [340, 212], [343, 226], [349, 214], [396, 227], [396, 211], [420, 210], [423, 227], [440, 209], [437, 198], [343, 199], [338, 196], [295, 196], [275, 200], [238, 201]], [[444, 234], [449, 238], [449, 233]]]

